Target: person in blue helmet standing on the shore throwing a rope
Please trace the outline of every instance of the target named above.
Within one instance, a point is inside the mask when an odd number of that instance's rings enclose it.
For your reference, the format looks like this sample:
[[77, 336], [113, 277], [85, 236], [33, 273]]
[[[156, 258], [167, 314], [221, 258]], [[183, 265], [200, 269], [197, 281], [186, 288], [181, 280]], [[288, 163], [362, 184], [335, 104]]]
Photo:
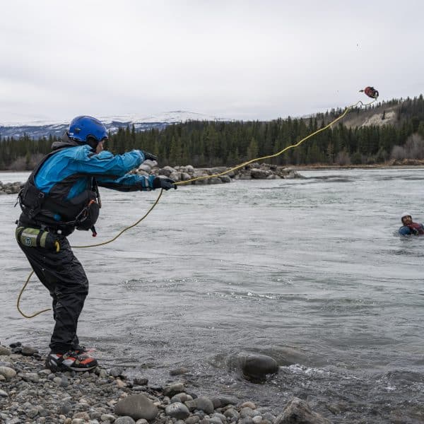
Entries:
[[146, 159], [155, 160], [154, 155], [140, 150], [112, 155], [103, 150], [105, 141], [107, 129], [98, 119], [74, 118], [18, 195], [22, 213], [16, 239], [53, 300], [55, 325], [46, 359], [50, 370], [86, 371], [98, 365], [76, 334], [88, 279], [66, 239], [75, 229], [96, 235], [98, 187], [121, 192], [177, 188], [170, 178], [128, 173]]

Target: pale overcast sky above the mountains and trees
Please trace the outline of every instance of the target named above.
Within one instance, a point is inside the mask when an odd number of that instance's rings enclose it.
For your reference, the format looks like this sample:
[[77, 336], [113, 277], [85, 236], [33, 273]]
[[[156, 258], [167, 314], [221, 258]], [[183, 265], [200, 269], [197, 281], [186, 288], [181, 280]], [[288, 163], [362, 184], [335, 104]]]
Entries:
[[423, 1], [13, 0], [0, 125], [187, 110], [300, 116], [424, 93]]

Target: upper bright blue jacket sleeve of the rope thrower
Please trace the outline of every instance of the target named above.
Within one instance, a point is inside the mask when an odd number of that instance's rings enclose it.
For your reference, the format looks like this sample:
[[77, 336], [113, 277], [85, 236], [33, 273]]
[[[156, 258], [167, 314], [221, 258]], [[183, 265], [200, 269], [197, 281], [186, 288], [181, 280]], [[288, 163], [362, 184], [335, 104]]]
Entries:
[[73, 151], [72, 167], [81, 174], [93, 176], [108, 175], [112, 178], [122, 177], [144, 161], [142, 151], [133, 150], [123, 155], [112, 155], [108, 151], [92, 153], [88, 146]]

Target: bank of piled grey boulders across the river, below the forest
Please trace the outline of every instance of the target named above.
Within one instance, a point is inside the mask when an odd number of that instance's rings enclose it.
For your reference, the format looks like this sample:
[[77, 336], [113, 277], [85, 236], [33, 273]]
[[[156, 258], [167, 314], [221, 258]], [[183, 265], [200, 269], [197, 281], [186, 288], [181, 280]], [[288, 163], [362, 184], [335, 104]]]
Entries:
[[[213, 168], [195, 168], [192, 165], [163, 168], [158, 167], [155, 160], [145, 160], [138, 169], [132, 173], [138, 175], [157, 175], [170, 177], [176, 182], [184, 182], [193, 178], [201, 178], [196, 181], [189, 182], [189, 184], [222, 184], [225, 182], [232, 182], [237, 179], [292, 179], [303, 178], [297, 171], [279, 167], [276, 165], [269, 165], [266, 163], [252, 163], [239, 170], [230, 171], [228, 167], [213, 167]], [[216, 174], [225, 173], [219, 177], [214, 177]], [[1, 194], [18, 194], [19, 190], [23, 187], [23, 182], [6, 182], [0, 181], [0, 195]], [[188, 183], [187, 183], [188, 184]]]

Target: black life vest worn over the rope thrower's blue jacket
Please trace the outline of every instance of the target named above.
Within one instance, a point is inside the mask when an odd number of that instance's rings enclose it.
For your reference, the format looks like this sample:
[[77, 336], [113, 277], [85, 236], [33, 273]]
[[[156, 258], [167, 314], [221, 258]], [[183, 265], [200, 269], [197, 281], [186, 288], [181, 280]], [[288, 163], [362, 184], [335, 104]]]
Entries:
[[[43, 193], [35, 185], [35, 175], [46, 161], [64, 148], [64, 146], [47, 154], [31, 172], [27, 182], [18, 194], [18, 201], [22, 214], [20, 223], [48, 228], [69, 235], [75, 228], [77, 230], [93, 230], [99, 216], [101, 206], [100, 193], [97, 182], [91, 177], [90, 188], [84, 190], [73, 199], [66, 199], [73, 184], [86, 174], [73, 174], [54, 184], [49, 193]], [[58, 217], [60, 216], [60, 219]]]

